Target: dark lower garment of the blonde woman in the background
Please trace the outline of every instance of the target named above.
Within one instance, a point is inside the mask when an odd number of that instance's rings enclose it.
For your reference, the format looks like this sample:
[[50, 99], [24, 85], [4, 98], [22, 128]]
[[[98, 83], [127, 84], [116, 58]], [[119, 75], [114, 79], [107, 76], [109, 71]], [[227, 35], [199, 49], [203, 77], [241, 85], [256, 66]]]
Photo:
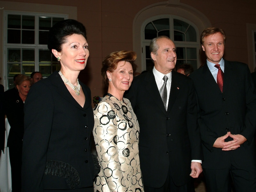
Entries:
[[21, 154], [22, 141], [19, 144], [9, 146], [11, 173], [12, 173], [12, 192], [21, 191]]

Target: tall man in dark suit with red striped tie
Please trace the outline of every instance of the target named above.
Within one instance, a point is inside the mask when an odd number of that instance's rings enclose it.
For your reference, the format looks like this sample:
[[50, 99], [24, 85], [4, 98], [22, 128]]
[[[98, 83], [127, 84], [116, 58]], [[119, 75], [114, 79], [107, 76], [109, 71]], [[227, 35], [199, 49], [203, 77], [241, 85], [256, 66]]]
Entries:
[[231, 173], [236, 191], [256, 191], [256, 93], [248, 66], [222, 58], [225, 39], [219, 28], [202, 32], [207, 61], [190, 75], [198, 100], [206, 187], [227, 192]]

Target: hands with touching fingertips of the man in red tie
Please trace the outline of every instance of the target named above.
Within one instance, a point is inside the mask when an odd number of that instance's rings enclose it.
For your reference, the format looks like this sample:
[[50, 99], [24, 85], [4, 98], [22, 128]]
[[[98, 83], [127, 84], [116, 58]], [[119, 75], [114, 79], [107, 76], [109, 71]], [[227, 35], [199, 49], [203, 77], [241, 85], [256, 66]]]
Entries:
[[[233, 138], [231, 141], [225, 141], [228, 137]], [[246, 141], [246, 138], [243, 135], [236, 134], [233, 135], [231, 132], [227, 132], [226, 135], [223, 135], [221, 137], [218, 137], [214, 144], [213, 147], [216, 148], [221, 148], [222, 151], [230, 151], [230, 150], [235, 150], [240, 147], [244, 142]]]

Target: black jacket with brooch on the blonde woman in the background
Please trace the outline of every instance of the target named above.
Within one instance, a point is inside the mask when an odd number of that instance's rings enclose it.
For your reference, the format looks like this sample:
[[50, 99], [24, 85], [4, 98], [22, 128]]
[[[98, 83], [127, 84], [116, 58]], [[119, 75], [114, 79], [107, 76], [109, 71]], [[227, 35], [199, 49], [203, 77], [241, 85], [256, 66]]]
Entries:
[[20, 145], [24, 133], [24, 103], [16, 88], [4, 92], [4, 108], [11, 126], [7, 146]]

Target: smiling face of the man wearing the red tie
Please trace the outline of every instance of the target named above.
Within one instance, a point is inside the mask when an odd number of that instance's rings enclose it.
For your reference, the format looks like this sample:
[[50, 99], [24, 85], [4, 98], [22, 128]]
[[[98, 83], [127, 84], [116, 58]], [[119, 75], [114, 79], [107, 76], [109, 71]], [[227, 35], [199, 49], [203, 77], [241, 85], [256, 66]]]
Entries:
[[214, 64], [218, 64], [223, 57], [224, 47], [224, 37], [220, 32], [206, 36], [202, 45], [207, 60]]

